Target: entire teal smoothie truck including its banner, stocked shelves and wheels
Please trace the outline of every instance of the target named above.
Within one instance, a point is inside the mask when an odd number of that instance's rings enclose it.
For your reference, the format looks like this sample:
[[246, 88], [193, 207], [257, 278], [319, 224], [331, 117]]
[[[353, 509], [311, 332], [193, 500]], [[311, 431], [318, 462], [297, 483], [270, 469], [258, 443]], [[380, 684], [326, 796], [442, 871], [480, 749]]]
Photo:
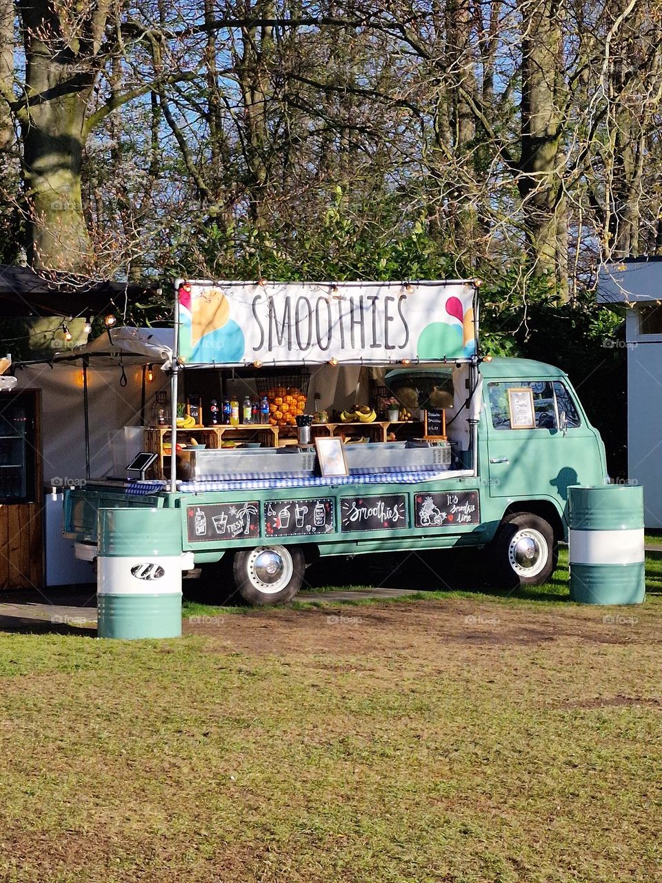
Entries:
[[169, 414], [132, 478], [67, 491], [65, 536], [92, 561], [100, 509], [178, 509], [183, 569], [229, 565], [251, 604], [292, 600], [327, 555], [478, 547], [495, 583], [545, 582], [568, 487], [608, 481], [605, 449], [566, 374], [480, 352], [478, 295], [178, 280]]

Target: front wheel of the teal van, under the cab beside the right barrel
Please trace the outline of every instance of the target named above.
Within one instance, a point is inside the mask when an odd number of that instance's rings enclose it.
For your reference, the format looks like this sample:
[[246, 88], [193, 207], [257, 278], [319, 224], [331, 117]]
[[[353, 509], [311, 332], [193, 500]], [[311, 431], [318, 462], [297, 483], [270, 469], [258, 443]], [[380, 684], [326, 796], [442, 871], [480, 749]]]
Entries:
[[490, 555], [500, 585], [516, 589], [546, 583], [556, 570], [559, 546], [545, 518], [518, 512], [504, 517]]

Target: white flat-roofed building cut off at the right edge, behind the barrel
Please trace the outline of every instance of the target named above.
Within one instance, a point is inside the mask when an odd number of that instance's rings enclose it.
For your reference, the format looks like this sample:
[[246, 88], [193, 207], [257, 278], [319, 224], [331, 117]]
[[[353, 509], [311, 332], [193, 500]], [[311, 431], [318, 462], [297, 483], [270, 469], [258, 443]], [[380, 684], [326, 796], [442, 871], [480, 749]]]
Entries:
[[646, 527], [662, 527], [662, 258], [607, 264], [598, 304], [626, 306], [628, 478], [643, 485]]

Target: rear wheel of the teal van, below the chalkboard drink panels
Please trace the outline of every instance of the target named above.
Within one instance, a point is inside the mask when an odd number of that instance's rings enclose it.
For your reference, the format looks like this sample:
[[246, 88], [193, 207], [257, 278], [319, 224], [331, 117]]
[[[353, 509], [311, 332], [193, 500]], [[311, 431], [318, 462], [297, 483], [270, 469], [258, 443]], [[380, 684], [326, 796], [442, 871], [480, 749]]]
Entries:
[[232, 575], [247, 604], [287, 604], [304, 581], [304, 553], [297, 546], [254, 546], [235, 553]]

